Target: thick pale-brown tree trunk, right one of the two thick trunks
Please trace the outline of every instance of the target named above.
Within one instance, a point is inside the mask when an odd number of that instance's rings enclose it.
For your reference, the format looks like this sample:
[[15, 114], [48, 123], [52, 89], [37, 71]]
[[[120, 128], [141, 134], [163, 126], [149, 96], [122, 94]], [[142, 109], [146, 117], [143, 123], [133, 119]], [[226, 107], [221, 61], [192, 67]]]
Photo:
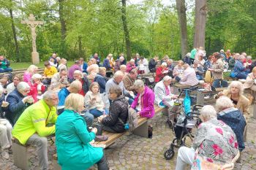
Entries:
[[195, 1], [195, 44], [194, 47], [205, 48], [206, 39], [206, 0]]

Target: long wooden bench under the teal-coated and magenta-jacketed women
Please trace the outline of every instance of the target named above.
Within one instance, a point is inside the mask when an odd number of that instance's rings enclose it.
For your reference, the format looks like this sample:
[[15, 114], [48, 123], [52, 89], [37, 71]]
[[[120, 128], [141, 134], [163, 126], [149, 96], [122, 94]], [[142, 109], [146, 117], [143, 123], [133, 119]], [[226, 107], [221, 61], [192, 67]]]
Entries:
[[[156, 104], [154, 104], [154, 111], [155, 113], [159, 113], [162, 111], [165, 111], [166, 108], [158, 107]], [[103, 135], [108, 135], [108, 140], [103, 142], [95, 142], [95, 144], [105, 144], [105, 148], [109, 147], [111, 144], [116, 142], [118, 138], [123, 136], [124, 134], [127, 134], [128, 132], [115, 134], [108, 131], [103, 131]], [[138, 120], [138, 127], [135, 128], [134, 131], [132, 131], [132, 134], [142, 136], [142, 137], [148, 137], [148, 119], [145, 117], [140, 117]], [[57, 153], [53, 154], [53, 169], [54, 170], [61, 170], [61, 166], [58, 164], [58, 156]]]

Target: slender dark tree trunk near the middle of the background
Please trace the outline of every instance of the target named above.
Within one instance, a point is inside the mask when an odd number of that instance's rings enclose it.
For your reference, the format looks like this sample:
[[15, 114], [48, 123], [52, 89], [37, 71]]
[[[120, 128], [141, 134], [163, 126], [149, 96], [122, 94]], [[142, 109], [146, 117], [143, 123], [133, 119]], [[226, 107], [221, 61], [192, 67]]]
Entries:
[[123, 27], [124, 27], [124, 37], [125, 37], [125, 44], [127, 47], [127, 61], [131, 59], [131, 42], [129, 41], [129, 30], [127, 27], [127, 1], [122, 0], [122, 7], [121, 7], [121, 20], [123, 21]]

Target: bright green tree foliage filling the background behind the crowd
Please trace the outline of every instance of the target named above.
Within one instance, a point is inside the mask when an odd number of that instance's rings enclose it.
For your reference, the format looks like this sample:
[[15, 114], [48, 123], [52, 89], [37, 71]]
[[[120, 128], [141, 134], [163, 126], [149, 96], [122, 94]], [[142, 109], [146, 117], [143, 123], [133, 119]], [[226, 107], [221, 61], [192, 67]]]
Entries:
[[[123, 0], [124, 2], [124, 0]], [[194, 41], [195, 1], [187, 0], [188, 52]], [[124, 6], [120, 0], [0, 0], [0, 54], [13, 61], [31, 61], [31, 33], [20, 23], [29, 14], [44, 24], [37, 27], [41, 61], [56, 52], [69, 60], [99, 53], [105, 58], [127, 53]], [[126, 2], [125, 19], [132, 55], [181, 57], [181, 34], [176, 4], [160, 0]], [[206, 52], [220, 49], [256, 55], [255, 0], [207, 1]]]

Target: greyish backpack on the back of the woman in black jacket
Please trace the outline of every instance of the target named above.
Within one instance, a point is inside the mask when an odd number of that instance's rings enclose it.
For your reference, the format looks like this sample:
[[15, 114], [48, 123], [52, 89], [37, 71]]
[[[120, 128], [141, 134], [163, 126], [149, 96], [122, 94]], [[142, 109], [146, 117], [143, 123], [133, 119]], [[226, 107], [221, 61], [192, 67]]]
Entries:
[[120, 118], [118, 119], [120, 120], [121, 123], [124, 124], [124, 128], [129, 132], [132, 132], [135, 130], [135, 128], [137, 128], [137, 125], [138, 125], [137, 112], [135, 111], [135, 109], [132, 109], [132, 107], [130, 107], [129, 105], [128, 105], [127, 123], [124, 123], [123, 120], [121, 120]]

